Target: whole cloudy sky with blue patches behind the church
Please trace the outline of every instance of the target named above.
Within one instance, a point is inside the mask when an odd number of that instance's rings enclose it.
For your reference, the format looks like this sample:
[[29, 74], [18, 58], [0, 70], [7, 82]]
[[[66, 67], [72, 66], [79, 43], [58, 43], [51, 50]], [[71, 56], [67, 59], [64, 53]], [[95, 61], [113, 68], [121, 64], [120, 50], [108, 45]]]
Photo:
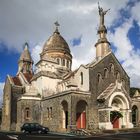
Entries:
[[[28, 42], [35, 63], [43, 44], [54, 32], [54, 22], [70, 46], [73, 69], [95, 58], [99, 0], [0, 0], [0, 99], [6, 75], [15, 75], [17, 62]], [[100, 0], [111, 49], [140, 87], [140, 1]]]

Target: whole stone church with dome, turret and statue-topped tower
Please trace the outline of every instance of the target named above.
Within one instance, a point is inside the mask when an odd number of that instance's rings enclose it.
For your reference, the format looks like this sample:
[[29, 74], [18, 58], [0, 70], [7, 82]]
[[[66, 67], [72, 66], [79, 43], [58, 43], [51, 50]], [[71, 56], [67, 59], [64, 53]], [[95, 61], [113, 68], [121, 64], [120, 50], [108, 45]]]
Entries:
[[110, 49], [99, 7], [96, 58], [71, 70], [70, 48], [58, 30], [43, 46], [35, 65], [25, 44], [15, 77], [7, 76], [3, 94], [2, 130], [20, 130], [38, 122], [52, 131], [132, 128], [130, 78]]

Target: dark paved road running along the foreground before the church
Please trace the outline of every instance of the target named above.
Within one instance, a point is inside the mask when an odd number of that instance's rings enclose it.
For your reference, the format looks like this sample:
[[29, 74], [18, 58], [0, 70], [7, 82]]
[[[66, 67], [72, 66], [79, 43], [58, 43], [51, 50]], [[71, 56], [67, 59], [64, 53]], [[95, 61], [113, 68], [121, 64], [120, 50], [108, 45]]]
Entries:
[[0, 133], [0, 140], [140, 140], [140, 133], [108, 134], [102, 136], [67, 136], [58, 134]]

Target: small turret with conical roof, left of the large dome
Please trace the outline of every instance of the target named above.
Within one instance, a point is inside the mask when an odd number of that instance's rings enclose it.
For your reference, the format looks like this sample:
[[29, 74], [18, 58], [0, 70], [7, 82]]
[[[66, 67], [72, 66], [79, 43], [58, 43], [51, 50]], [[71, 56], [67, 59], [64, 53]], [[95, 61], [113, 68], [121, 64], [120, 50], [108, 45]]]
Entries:
[[28, 43], [24, 44], [24, 50], [20, 55], [19, 61], [18, 61], [18, 72], [22, 73], [33, 73], [33, 60], [31, 58], [30, 52], [29, 52], [29, 45]]

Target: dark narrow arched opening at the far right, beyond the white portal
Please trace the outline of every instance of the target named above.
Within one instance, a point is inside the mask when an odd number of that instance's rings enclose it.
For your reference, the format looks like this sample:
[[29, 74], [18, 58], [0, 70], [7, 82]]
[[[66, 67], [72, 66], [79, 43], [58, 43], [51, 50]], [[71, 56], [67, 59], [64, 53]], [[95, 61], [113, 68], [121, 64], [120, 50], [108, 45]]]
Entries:
[[132, 107], [132, 123], [134, 127], [138, 125], [138, 107], [136, 105]]

